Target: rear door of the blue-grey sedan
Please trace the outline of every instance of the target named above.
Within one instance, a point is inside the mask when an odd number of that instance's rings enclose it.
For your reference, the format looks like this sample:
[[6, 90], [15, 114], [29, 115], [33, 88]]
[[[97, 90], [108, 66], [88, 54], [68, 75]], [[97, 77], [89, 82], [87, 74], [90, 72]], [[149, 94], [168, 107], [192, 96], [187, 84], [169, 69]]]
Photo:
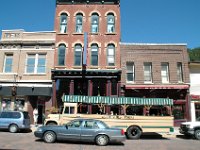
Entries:
[[82, 141], [94, 141], [96, 135], [99, 132], [99, 127], [94, 120], [86, 120], [81, 127], [81, 140]]

